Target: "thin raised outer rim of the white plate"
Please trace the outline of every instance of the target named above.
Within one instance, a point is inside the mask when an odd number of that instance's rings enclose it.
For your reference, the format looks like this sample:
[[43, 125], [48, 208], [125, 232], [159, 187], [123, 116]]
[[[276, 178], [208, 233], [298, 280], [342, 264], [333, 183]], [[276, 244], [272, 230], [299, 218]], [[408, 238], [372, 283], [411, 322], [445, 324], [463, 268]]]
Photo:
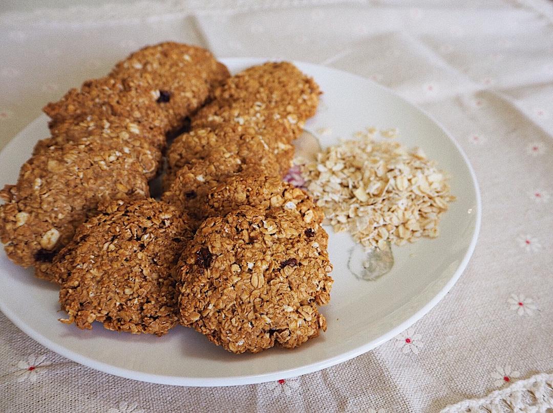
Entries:
[[[238, 65], [256, 65], [262, 62], [279, 61], [280, 59], [273, 59], [273, 58], [265, 59], [262, 57], [221, 57], [221, 58], [218, 58], [218, 60], [225, 63], [225, 65], [238, 66]], [[286, 60], [286, 59], [281, 59], [281, 60]], [[32, 338], [34, 341], [40, 343], [41, 345], [48, 348], [49, 350], [57, 354], [60, 354], [62, 357], [66, 357], [71, 361], [81, 364], [82, 366], [90, 367], [95, 370], [100, 370], [103, 373], [112, 374], [112, 375], [116, 375], [118, 377], [123, 377], [127, 379], [137, 380], [140, 382], [148, 382], [148, 383], [156, 383], [156, 384], [164, 384], [164, 385], [176, 385], [176, 386], [192, 386], [192, 387], [219, 387], [219, 386], [257, 384], [257, 383], [269, 382], [271, 380], [288, 379], [288, 378], [297, 377], [303, 374], [313, 373], [331, 366], [335, 366], [336, 364], [348, 361], [349, 359], [358, 357], [361, 354], [364, 354], [368, 351], [373, 350], [374, 348], [382, 345], [384, 342], [387, 342], [393, 337], [397, 336], [400, 332], [408, 329], [416, 321], [420, 320], [423, 316], [425, 316], [432, 308], [434, 308], [434, 306], [436, 306], [437, 303], [439, 303], [439, 301], [442, 300], [442, 298], [444, 298], [444, 296], [447, 294], [447, 292], [450, 291], [453, 285], [455, 285], [457, 280], [461, 277], [461, 274], [465, 271], [468, 265], [468, 262], [470, 261], [473, 255], [474, 248], [476, 248], [478, 235], [479, 235], [479, 232], [481, 229], [481, 223], [482, 223], [482, 199], [481, 199], [480, 187], [478, 184], [476, 173], [474, 172], [471, 162], [468, 160], [468, 157], [465, 151], [463, 151], [460, 144], [458, 144], [457, 140], [453, 138], [452, 134], [439, 121], [437, 121], [432, 115], [427, 113], [424, 109], [421, 109], [417, 105], [409, 102], [409, 100], [399, 96], [399, 94], [394, 92], [392, 89], [382, 86], [381, 84], [378, 84], [369, 78], [356, 75], [355, 73], [343, 71], [334, 67], [328, 67], [324, 65], [318, 65], [316, 63], [302, 62], [302, 61], [296, 61], [296, 60], [291, 62], [297, 66], [322, 67], [328, 70], [346, 73], [348, 76], [356, 77], [358, 78], [358, 80], [363, 82], [369, 82], [374, 87], [377, 87], [389, 94], [392, 94], [394, 98], [401, 100], [404, 104], [408, 105], [411, 109], [414, 109], [415, 111], [421, 113], [432, 123], [438, 126], [438, 128], [441, 129], [444, 132], [444, 134], [447, 136], [447, 138], [452, 142], [456, 150], [460, 153], [462, 160], [465, 162], [465, 165], [467, 166], [467, 169], [469, 171], [469, 175], [471, 176], [471, 179], [472, 179], [472, 190], [474, 190], [474, 197], [476, 199], [476, 222], [474, 224], [474, 232], [472, 234], [471, 241], [468, 245], [465, 255], [463, 256], [463, 259], [459, 263], [456, 271], [453, 273], [451, 278], [446, 282], [444, 287], [439, 292], [437, 292], [429, 301], [427, 301], [427, 303], [424, 304], [418, 311], [415, 311], [415, 313], [411, 315], [408, 319], [401, 322], [399, 325], [390, 329], [389, 331], [387, 331], [380, 337], [376, 338], [375, 340], [369, 341], [364, 345], [353, 348], [352, 350], [349, 350], [347, 352], [340, 353], [337, 356], [327, 357], [321, 361], [306, 364], [305, 366], [300, 366], [297, 368], [280, 370], [279, 372], [248, 374], [248, 375], [232, 375], [228, 377], [218, 377], [218, 378], [193, 378], [193, 377], [182, 377], [182, 376], [178, 376], [178, 377], [168, 376], [168, 375], [160, 375], [160, 374], [153, 374], [153, 373], [137, 372], [136, 370], [132, 370], [132, 369], [112, 366], [111, 364], [108, 364], [102, 361], [97, 361], [87, 356], [82, 356], [81, 354], [77, 354], [73, 350], [70, 350], [69, 348], [66, 348], [66, 347], [62, 347], [56, 344], [55, 342], [51, 341], [48, 337], [45, 337], [38, 332], [35, 332], [31, 327], [29, 327], [22, 320], [20, 320], [16, 314], [14, 314], [9, 308], [7, 308], [2, 301], [0, 301], [0, 311], [2, 311], [2, 313], [6, 315], [6, 317], [9, 320], [11, 320], [13, 324], [18, 327], [18, 329], [22, 330], [27, 336]], [[25, 131], [27, 129], [32, 128], [34, 124], [42, 123], [47, 120], [48, 120], [48, 117], [46, 117], [45, 114], [39, 115], [39, 117], [31, 121], [29, 124], [27, 124], [27, 126], [25, 126], [25, 128], [23, 128], [22, 130], [19, 131], [19, 133], [13, 136], [12, 139], [8, 142], [8, 144], [4, 146], [1, 152], [4, 152], [8, 147], [14, 144], [14, 141], [16, 140], [16, 138], [19, 135], [23, 135]], [[229, 384], [229, 383], [232, 383], [232, 384]]]

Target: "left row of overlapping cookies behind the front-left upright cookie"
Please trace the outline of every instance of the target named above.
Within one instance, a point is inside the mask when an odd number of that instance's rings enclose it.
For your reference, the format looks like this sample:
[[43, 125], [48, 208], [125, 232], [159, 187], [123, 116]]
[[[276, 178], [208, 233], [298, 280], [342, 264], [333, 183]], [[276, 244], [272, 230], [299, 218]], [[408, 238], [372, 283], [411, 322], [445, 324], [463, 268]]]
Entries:
[[15, 263], [51, 279], [54, 257], [98, 204], [149, 196], [169, 131], [178, 129], [229, 76], [205, 49], [145, 47], [108, 76], [71, 89], [44, 112], [38, 142], [15, 185], [0, 191], [0, 239]]

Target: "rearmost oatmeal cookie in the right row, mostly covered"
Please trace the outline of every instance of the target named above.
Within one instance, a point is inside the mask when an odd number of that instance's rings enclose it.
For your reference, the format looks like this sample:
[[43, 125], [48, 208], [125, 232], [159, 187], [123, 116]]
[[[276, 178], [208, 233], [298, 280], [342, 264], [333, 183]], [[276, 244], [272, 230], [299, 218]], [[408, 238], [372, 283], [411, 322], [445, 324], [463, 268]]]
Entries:
[[315, 115], [320, 94], [317, 83], [290, 62], [249, 67], [212, 92], [217, 100], [263, 102], [300, 123]]

